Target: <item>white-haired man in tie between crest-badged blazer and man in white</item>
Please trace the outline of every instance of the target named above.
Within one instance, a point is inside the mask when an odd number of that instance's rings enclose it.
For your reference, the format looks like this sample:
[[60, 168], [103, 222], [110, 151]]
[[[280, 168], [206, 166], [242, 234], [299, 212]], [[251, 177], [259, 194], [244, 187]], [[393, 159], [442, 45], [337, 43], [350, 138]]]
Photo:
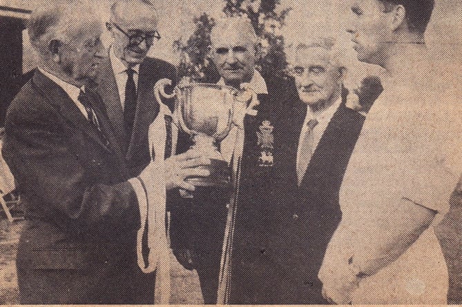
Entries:
[[341, 50], [332, 38], [300, 43], [293, 50], [290, 72], [307, 108], [302, 108], [302, 114], [306, 115], [296, 140], [298, 194], [291, 201], [297, 206], [291, 209], [294, 222], [288, 224], [296, 234], [293, 251], [300, 252], [297, 257], [304, 258], [300, 261], [304, 261], [305, 267], [291, 268], [293, 275], [296, 269], [304, 273], [299, 274], [296, 286], [302, 294], [290, 302], [327, 302], [317, 275], [327, 244], [341, 219], [338, 191], [364, 114], [382, 90], [380, 83], [370, 82], [374, 79], [365, 79], [374, 87], [367, 92], [365, 86], [360, 88], [363, 91], [356, 92], [359, 95], [356, 108], [347, 106], [347, 97], [357, 98], [343, 86], [347, 68], [341, 59]]

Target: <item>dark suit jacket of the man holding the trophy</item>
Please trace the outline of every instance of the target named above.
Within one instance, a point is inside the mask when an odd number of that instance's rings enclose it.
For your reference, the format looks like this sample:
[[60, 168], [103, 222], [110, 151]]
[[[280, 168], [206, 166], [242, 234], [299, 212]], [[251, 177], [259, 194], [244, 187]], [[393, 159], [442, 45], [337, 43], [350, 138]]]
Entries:
[[133, 299], [126, 282], [137, 277], [137, 200], [102, 101], [93, 101], [108, 146], [41, 72], [8, 109], [3, 157], [27, 220], [17, 254], [21, 303]]

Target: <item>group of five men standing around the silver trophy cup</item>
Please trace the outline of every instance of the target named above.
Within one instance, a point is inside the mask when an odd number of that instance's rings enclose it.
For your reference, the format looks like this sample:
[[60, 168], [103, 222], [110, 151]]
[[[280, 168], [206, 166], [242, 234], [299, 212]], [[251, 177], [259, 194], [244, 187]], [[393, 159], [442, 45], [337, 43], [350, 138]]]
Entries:
[[185, 181], [209, 176], [211, 160], [189, 149], [173, 101], [155, 97], [158, 80], [177, 77], [146, 57], [160, 39], [152, 3], [115, 1], [108, 52], [79, 1], [35, 10], [40, 63], [3, 146], [26, 208], [21, 304], [153, 304], [167, 229], [206, 304], [444, 304], [430, 226], [461, 174], [462, 124], [418, 78], [434, 71], [423, 40], [433, 1], [351, 9], [347, 32], [360, 61], [389, 73], [383, 88], [345, 88], [329, 39], [298, 44], [287, 76], [260, 74], [251, 23], [213, 26], [218, 83], [251, 92], [219, 144], [239, 175], [231, 201]]

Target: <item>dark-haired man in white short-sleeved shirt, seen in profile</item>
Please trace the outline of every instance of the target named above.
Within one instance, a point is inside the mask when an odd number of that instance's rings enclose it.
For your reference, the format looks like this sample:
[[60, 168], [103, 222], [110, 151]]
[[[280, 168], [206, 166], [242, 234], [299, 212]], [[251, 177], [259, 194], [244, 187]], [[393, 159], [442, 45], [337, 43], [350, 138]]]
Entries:
[[434, 233], [461, 174], [461, 106], [435, 79], [425, 28], [433, 0], [353, 0], [358, 59], [385, 68], [382, 95], [340, 188], [342, 221], [320, 279], [338, 304], [446, 304]]

